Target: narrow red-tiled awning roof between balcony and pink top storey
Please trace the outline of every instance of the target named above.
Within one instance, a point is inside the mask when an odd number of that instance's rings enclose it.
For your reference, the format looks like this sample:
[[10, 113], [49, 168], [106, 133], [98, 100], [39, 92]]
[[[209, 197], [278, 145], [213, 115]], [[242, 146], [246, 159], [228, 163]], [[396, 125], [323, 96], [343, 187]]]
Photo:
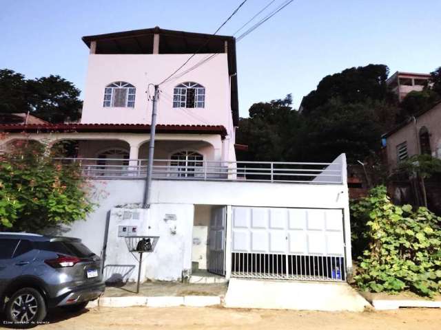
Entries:
[[[0, 124], [0, 131], [18, 133], [150, 133], [150, 124]], [[156, 133], [218, 134], [227, 130], [222, 125], [156, 125]]]

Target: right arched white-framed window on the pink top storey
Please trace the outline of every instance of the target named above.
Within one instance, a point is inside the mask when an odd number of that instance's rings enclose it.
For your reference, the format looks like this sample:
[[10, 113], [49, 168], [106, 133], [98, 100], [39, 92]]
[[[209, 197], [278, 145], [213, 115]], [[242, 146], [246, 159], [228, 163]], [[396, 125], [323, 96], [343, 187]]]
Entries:
[[182, 83], [173, 89], [174, 108], [205, 107], [205, 88], [198, 83]]

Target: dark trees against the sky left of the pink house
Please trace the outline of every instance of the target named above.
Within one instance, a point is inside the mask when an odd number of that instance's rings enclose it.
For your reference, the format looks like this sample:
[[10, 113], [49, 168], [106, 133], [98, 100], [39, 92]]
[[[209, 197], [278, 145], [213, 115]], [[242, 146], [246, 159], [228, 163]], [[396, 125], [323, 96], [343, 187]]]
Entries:
[[65, 122], [81, 117], [80, 90], [60, 76], [25, 79], [10, 69], [0, 70], [0, 113], [30, 111], [48, 122]]

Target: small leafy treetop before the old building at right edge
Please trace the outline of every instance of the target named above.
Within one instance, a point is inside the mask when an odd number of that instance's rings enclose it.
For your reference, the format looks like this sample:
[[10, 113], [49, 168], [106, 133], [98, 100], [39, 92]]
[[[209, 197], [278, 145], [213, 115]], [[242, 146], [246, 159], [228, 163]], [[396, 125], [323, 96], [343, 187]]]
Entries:
[[441, 173], [441, 159], [431, 155], [414, 155], [400, 162], [398, 171], [404, 171], [408, 175], [416, 173], [423, 179], [427, 179], [435, 173]]

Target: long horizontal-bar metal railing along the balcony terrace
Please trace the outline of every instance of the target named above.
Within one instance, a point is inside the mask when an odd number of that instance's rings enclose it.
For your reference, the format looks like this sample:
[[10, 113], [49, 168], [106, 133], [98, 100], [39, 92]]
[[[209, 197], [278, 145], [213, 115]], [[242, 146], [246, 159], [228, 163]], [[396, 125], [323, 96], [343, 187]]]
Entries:
[[[81, 166], [90, 179], [145, 179], [146, 159], [56, 158]], [[341, 163], [221, 162], [154, 159], [153, 179], [342, 184]]]

